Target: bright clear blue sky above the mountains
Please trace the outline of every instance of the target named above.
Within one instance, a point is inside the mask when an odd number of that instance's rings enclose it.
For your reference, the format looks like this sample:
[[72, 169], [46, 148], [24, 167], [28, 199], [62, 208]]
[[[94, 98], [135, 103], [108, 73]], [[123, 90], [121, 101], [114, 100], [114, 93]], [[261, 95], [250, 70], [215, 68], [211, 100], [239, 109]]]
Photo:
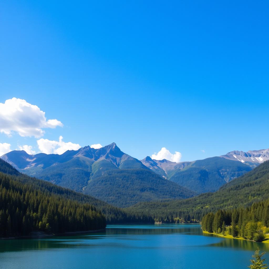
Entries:
[[62, 136], [190, 161], [269, 147], [268, 1], [1, 5], [0, 103], [20, 98], [63, 124], [0, 133], [10, 149]]

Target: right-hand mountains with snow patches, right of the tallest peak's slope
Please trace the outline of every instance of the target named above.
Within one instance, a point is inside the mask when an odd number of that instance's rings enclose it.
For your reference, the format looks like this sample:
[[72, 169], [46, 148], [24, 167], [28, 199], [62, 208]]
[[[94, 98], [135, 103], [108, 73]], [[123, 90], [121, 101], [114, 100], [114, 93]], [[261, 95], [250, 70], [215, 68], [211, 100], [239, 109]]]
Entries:
[[141, 162], [155, 173], [197, 193], [214, 192], [222, 185], [252, 170], [269, 159], [269, 149], [231, 151], [220, 157], [192, 162], [153, 160]]

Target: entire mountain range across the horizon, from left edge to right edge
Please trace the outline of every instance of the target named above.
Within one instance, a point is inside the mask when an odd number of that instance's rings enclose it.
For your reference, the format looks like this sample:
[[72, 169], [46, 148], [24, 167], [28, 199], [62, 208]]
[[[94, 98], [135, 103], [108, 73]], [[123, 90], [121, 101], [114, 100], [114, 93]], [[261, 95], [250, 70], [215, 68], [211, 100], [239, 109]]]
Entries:
[[128, 207], [140, 201], [185, 199], [214, 192], [267, 160], [269, 150], [231, 151], [220, 157], [176, 163], [150, 157], [139, 161], [112, 143], [61, 155], [29, 155], [15, 150], [1, 158], [24, 174]]

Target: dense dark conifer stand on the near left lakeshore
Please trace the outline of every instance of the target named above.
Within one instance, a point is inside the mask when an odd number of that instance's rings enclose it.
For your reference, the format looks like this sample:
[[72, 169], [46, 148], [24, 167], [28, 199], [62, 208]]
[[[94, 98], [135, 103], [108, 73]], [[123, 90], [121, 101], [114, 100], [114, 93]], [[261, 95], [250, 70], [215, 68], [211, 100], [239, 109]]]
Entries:
[[44, 193], [0, 172], [0, 237], [32, 231], [63, 233], [103, 229], [104, 215], [87, 203]]

